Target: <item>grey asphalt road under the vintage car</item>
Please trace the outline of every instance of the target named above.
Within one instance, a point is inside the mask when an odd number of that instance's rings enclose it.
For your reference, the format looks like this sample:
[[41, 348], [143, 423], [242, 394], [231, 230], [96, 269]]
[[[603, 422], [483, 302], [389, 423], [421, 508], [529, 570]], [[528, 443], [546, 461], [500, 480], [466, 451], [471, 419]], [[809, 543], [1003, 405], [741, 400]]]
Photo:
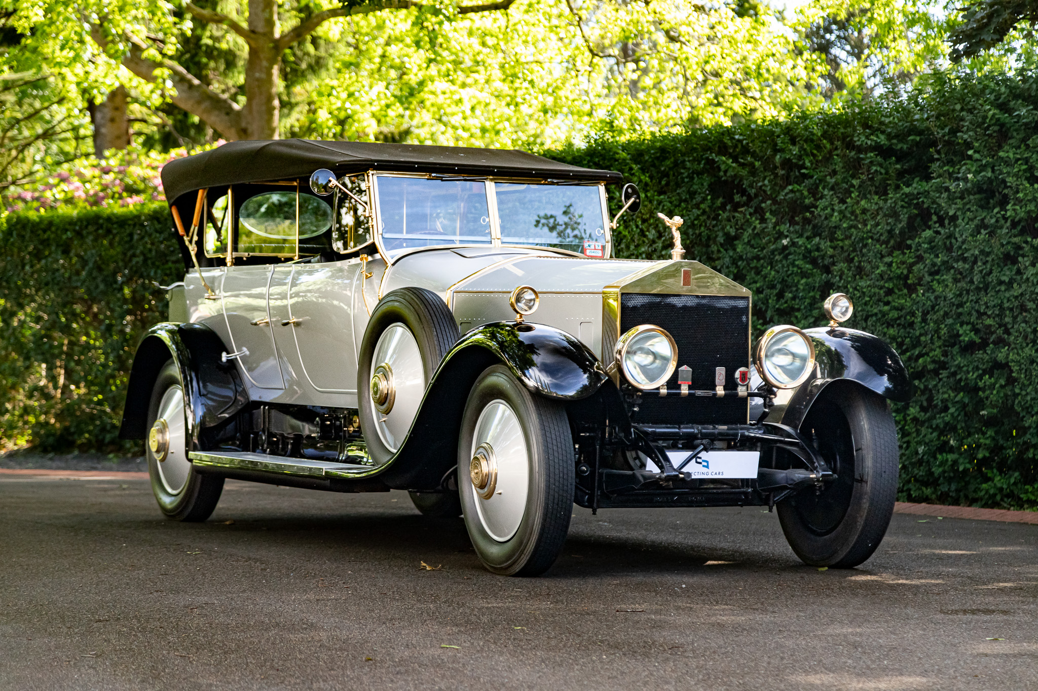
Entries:
[[757, 508], [574, 514], [517, 579], [403, 492], [229, 481], [181, 524], [0, 480], [0, 689], [1038, 689], [1038, 526], [896, 515], [818, 571]]

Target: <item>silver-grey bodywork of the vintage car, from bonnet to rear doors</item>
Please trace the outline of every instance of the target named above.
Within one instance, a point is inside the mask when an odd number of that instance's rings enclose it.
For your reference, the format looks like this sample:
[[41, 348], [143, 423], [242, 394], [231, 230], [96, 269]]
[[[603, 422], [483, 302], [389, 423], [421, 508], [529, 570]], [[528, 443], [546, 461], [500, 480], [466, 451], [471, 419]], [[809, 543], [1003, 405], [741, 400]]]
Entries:
[[[361, 271], [362, 263], [366, 277]], [[654, 264], [588, 259], [525, 248], [434, 249], [310, 263], [202, 269], [185, 277], [188, 321], [215, 330], [237, 355], [253, 401], [357, 407], [357, 352], [382, 296], [406, 286], [443, 297], [461, 333], [515, 317], [509, 295], [529, 285], [541, 295], [531, 320], [561, 328], [602, 358], [602, 289]]]

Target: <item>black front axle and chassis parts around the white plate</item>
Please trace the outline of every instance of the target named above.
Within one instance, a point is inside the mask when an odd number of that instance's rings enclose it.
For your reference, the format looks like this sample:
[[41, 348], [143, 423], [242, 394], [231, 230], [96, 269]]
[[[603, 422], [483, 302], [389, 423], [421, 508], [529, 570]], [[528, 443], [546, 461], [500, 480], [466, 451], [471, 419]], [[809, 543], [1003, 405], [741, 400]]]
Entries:
[[[773, 507], [808, 487], [821, 487], [836, 480], [810, 439], [791, 427], [774, 423], [752, 425], [633, 425], [630, 435], [616, 428], [603, 436], [585, 432], [580, 437], [577, 486], [574, 501], [597, 512], [606, 508], [639, 507]], [[711, 481], [695, 480], [683, 469], [700, 453], [725, 442], [726, 448], [759, 451], [765, 459], [772, 450], [784, 450], [803, 464], [803, 468], [759, 467], [756, 479], [726, 481], [726, 486], [710, 486]], [[603, 467], [603, 459], [616, 449], [636, 451], [653, 459], [659, 472], [617, 470]], [[678, 467], [667, 450], [691, 452]], [[774, 458], [773, 454], [771, 455]]]

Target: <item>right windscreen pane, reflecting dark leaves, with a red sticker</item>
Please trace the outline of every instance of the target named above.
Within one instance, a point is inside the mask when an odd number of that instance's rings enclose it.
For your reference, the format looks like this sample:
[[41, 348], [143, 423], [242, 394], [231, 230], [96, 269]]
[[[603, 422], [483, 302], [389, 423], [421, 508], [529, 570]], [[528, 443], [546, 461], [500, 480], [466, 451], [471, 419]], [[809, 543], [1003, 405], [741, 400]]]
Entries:
[[538, 244], [602, 257], [605, 220], [596, 185], [496, 182], [503, 244]]

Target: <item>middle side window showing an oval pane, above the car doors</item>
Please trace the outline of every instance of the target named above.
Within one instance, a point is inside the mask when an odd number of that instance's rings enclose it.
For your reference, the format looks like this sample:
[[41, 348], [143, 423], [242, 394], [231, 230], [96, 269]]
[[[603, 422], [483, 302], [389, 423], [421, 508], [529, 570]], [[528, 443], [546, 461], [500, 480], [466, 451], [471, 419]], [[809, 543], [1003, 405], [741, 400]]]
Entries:
[[[298, 215], [297, 215], [298, 214]], [[331, 207], [318, 197], [292, 192], [265, 192], [247, 199], [238, 210], [238, 253], [296, 254], [296, 219], [299, 220], [299, 253], [327, 250]]]

